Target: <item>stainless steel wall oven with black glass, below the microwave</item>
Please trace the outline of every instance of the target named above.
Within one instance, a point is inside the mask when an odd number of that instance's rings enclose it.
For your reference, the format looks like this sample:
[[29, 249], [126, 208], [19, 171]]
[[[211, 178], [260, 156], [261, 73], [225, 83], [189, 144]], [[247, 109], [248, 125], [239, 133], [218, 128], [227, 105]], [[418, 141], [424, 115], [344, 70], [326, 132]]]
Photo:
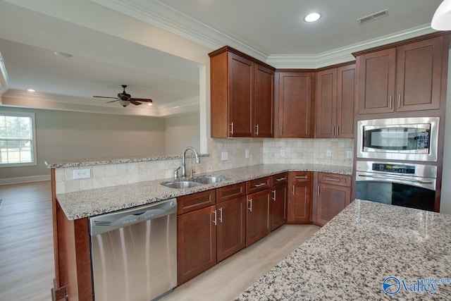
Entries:
[[437, 166], [357, 161], [357, 199], [434, 211]]

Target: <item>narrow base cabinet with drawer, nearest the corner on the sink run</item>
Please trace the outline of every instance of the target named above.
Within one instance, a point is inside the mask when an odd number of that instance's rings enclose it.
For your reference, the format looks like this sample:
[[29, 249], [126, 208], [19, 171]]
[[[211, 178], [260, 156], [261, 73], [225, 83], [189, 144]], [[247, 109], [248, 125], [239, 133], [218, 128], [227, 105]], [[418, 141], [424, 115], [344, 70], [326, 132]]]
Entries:
[[287, 173], [271, 177], [272, 189], [269, 202], [269, 225], [271, 231], [282, 226], [287, 221]]

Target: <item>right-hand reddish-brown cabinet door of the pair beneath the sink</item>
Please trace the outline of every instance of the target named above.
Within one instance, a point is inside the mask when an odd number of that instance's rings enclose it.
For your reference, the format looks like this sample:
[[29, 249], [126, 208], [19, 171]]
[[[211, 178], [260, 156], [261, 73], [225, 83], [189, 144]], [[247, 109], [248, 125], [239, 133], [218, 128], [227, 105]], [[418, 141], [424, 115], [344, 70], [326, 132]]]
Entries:
[[246, 246], [246, 197], [216, 205], [218, 214], [218, 262]]

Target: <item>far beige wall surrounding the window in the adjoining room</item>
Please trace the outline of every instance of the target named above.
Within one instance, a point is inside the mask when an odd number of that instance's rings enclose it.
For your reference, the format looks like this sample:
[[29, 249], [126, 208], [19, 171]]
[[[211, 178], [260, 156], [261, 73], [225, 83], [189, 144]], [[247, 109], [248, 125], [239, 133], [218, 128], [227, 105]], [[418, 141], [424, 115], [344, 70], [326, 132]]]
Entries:
[[0, 167], [0, 179], [49, 175], [48, 159], [165, 154], [163, 118], [118, 116], [6, 106], [36, 114], [37, 166]]

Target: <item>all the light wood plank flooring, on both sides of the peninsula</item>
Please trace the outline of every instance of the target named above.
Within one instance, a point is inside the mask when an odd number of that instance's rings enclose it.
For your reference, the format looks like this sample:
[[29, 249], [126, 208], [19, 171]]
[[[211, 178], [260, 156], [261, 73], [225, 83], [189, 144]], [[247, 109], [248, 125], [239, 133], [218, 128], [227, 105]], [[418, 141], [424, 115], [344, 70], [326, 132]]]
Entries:
[[[49, 301], [54, 278], [50, 182], [0, 186], [0, 199], [0, 300]], [[284, 225], [161, 300], [233, 300], [318, 230]]]

